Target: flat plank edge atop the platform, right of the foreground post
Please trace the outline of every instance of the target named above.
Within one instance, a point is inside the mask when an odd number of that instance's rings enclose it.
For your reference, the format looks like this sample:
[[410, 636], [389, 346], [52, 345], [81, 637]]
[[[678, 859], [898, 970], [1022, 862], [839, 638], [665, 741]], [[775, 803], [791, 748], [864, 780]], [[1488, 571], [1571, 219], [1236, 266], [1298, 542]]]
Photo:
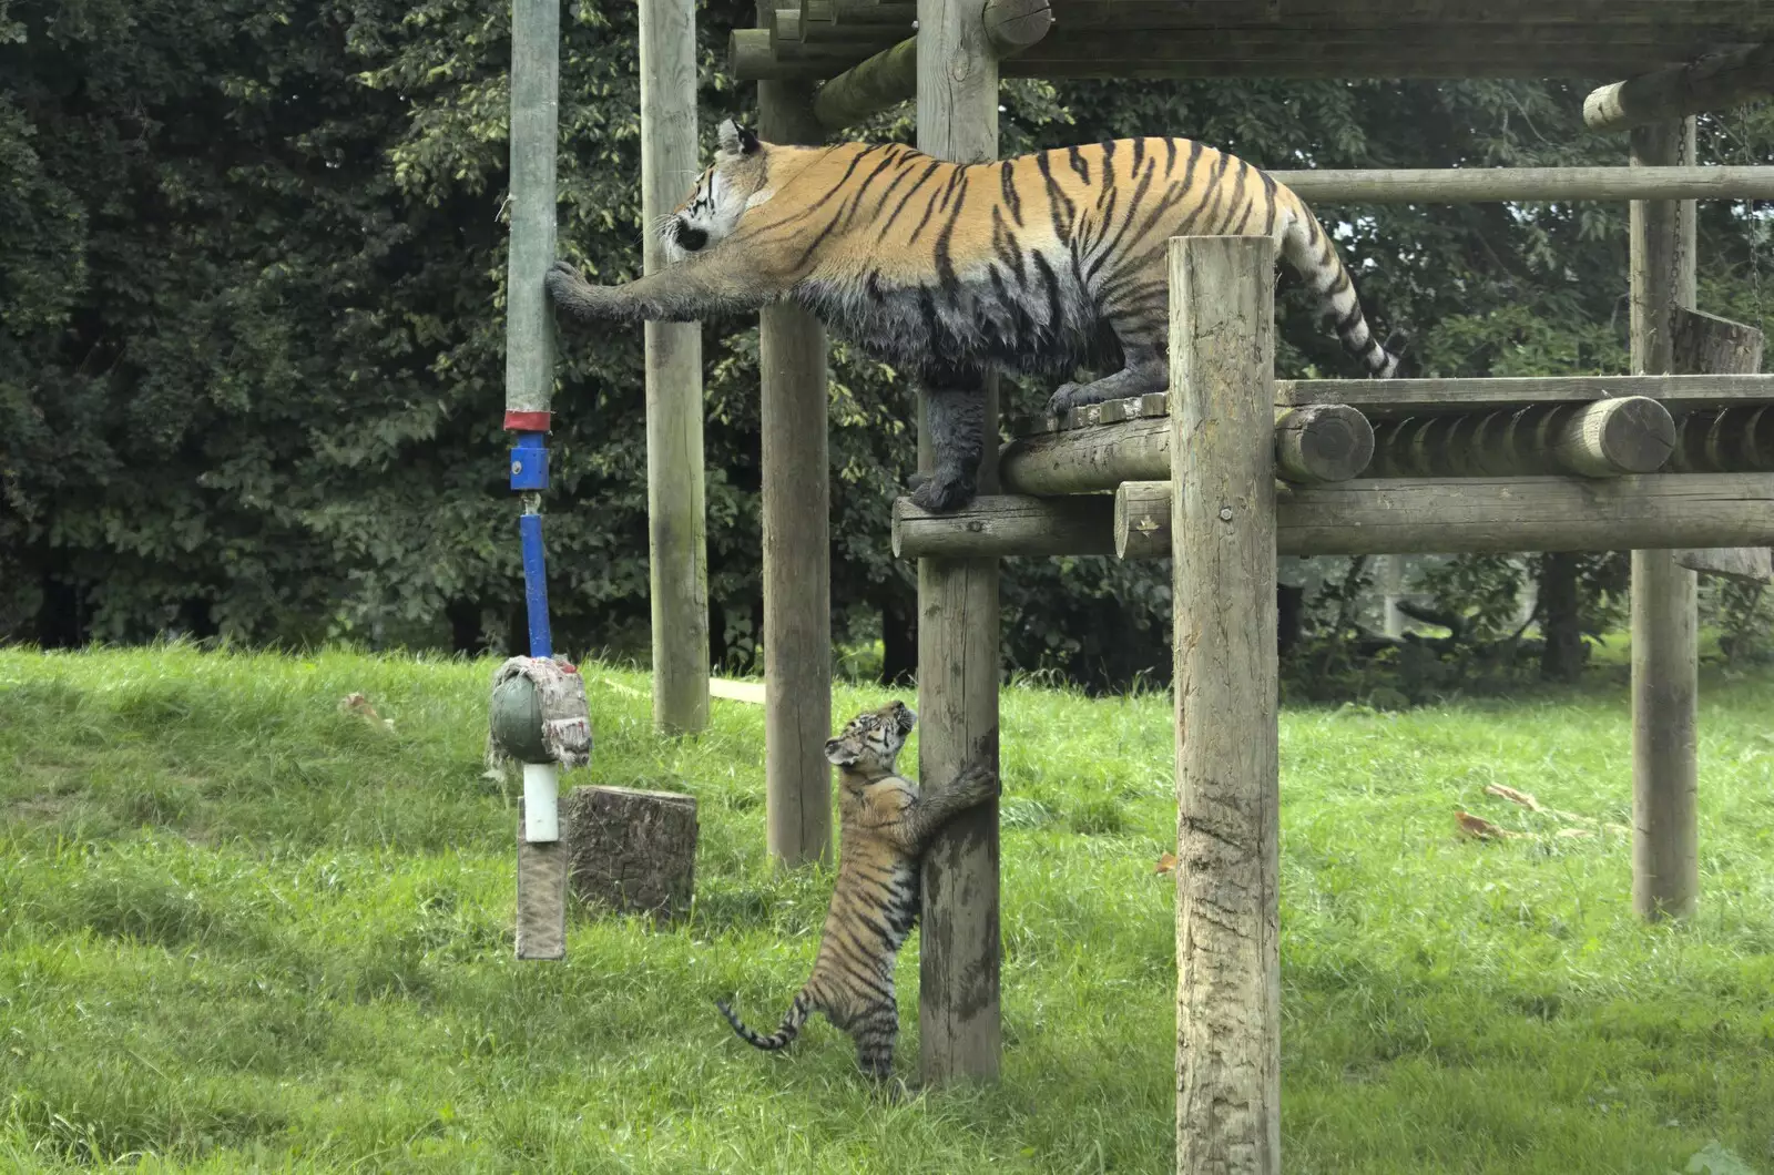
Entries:
[[1673, 414], [1774, 403], [1774, 375], [1581, 375], [1501, 380], [1277, 380], [1276, 403], [1345, 403], [1370, 419], [1481, 414], [1648, 396]]

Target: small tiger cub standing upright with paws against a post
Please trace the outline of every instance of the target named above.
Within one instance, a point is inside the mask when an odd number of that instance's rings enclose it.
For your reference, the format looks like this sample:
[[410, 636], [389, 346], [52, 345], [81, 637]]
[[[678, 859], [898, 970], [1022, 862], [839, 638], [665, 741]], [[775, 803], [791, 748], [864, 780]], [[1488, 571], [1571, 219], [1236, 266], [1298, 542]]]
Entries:
[[786, 1047], [809, 1013], [825, 1012], [857, 1042], [864, 1074], [876, 1081], [892, 1076], [892, 1045], [899, 1035], [892, 971], [917, 921], [919, 857], [944, 824], [999, 793], [997, 774], [976, 763], [949, 786], [921, 795], [915, 783], [894, 772], [894, 760], [915, 722], [910, 706], [891, 701], [859, 714], [825, 744], [825, 758], [837, 767], [843, 859], [812, 976], [768, 1037], [715, 1001], [733, 1031], [759, 1049]]

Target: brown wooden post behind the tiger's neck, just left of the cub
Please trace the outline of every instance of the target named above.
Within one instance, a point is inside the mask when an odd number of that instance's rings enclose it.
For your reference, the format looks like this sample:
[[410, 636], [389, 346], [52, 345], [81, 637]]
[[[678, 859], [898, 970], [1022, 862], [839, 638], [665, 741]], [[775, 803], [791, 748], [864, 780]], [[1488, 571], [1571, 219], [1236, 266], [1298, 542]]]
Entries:
[[[765, 4], [757, 16], [770, 14]], [[757, 83], [765, 142], [816, 144], [805, 85]], [[782, 864], [832, 859], [832, 547], [825, 328], [797, 305], [757, 316], [765, 541], [765, 824]]]

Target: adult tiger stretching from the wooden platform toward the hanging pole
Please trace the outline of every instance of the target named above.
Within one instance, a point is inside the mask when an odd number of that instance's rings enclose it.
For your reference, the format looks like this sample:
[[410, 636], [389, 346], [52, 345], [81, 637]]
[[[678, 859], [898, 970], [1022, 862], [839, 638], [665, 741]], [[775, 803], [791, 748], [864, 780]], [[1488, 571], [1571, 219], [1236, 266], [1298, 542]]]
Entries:
[[727, 121], [715, 163], [656, 231], [671, 264], [593, 286], [557, 261], [555, 305], [582, 321], [688, 321], [798, 302], [930, 392], [935, 472], [914, 493], [926, 509], [974, 495], [986, 371], [1070, 376], [1118, 344], [1119, 371], [1064, 383], [1050, 410], [1166, 389], [1171, 236], [1272, 236], [1366, 375], [1398, 362], [1306, 204], [1189, 138], [947, 163], [901, 144], [775, 146]]

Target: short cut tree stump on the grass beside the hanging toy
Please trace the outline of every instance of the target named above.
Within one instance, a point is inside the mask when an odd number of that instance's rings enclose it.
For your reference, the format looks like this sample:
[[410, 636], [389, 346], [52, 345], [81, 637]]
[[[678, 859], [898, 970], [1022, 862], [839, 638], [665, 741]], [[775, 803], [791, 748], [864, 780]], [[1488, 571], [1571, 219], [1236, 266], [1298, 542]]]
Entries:
[[593, 907], [669, 921], [695, 891], [695, 797], [573, 788], [561, 804], [568, 884]]

